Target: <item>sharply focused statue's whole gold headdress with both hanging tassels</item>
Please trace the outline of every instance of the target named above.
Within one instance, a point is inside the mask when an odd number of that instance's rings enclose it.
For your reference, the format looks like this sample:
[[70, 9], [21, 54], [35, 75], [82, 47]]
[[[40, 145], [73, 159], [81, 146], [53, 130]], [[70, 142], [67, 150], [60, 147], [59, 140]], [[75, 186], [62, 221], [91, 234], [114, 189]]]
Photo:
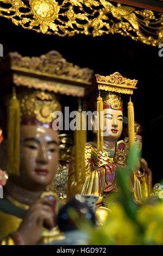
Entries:
[[[105, 108], [120, 109], [123, 111], [121, 94], [133, 94], [136, 89], [137, 80], [130, 80], [123, 77], [119, 72], [115, 72], [110, 76], [96, 75], [99, 96], [97, 97], [98, 112], [98, 130], [97, 130], [97, 149], [103, 151], [103, 136], [101, 135], [101, 112]], [[102, 94], [100, 94], [102, 90]], [[103, 93], [105, 92], [105, 93]], [[104, 94], [104, 95], [103, 95]], [[129, 131], [129, 147], [135, 142], [134, 136], [134, 107], [133, 103], [128, 102], [128, 131]]]

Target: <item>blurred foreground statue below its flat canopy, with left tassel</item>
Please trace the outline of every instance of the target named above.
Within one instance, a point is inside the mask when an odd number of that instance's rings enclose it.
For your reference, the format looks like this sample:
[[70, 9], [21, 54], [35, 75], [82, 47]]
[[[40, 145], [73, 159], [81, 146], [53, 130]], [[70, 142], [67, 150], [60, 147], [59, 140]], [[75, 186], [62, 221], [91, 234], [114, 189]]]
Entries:
[[[49, 216], [52, 221], [52, 205], [48, 198], [50, 196], [54, 202], [56, 200], [54, 193], [46, 194], [45, 191], [57, 170], [59, 138], [58, 132], [52, 129], [52, 114], [59, 109], [61, 110], [61, 106], [55, 95], [40, 90], [25, 90], [17, 93], [17, 96], [14, 93], [9, 101], [9, 179], [4, 187], [4, 198], [0, 206], [0, 218], [3, 223], [0, 228], [2, 245], [26, 245], [33, 241], [43, 243], [63, 237], [56, 224], [49, 224], [45, 217]], [[46, 210], [45, 205], [48, 206]], [[56, 212], [57, 208], [53, 210]], [[40, 220], [38, 227], [32, 217], [34, 215], [35, 220]], [[42, 235], [37, 241], [41, 227]], [[53, 228], [51, 231], [50, 227]], [[34, 231], [36, 240], [32, 239]]]

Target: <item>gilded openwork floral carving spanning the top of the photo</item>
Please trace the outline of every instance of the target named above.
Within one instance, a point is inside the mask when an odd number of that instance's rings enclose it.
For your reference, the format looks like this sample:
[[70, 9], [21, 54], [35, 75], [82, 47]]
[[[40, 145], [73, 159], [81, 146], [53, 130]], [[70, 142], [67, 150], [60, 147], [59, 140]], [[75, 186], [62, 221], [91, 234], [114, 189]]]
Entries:
[[118, 33], [148, 45], [163, 42], [163, 13], [106, 0], [0, 0], [0, 16], [43, 34]]

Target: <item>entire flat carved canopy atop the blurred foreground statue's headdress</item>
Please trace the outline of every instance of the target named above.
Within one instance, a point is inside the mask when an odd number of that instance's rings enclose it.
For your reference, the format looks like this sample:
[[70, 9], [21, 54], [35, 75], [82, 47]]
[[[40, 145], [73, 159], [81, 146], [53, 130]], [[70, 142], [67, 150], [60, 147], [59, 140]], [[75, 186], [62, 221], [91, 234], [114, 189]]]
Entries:
[[57, 51], [50, 51], [40, 57], [22, 57], [17, 52], [10, 52], [0, 58], [2, 84], [5, 74], [11, 71], [12, 83], [37, 90], [64, 95], [83, 97], [85, 90], [91, 87], [90, 78], [93, 70], [80, 68], [69, 63]]

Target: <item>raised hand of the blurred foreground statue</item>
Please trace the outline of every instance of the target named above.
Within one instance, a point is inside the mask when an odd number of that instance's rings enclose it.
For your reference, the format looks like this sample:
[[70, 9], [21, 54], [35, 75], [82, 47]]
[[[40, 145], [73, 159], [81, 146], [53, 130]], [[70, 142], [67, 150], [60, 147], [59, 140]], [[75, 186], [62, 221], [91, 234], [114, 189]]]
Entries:
[[42, 198], [30, 206], [18, 229], [23, 245], [35, 245], [39, 242], [44, 224], [49, 228], [54, 227], [52, 204], [52, 200]]

